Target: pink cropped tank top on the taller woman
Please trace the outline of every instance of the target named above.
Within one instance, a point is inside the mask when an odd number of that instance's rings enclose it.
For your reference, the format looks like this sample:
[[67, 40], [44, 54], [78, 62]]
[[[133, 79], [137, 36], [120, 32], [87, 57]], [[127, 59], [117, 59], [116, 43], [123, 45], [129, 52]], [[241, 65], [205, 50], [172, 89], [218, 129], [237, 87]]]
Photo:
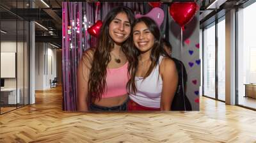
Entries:
[[102, 98], [116, 97], [127, 94], [126, 84], [129, 80], [128, 62], [120, 68], [108, 68], [106, 77], [106, 89]]

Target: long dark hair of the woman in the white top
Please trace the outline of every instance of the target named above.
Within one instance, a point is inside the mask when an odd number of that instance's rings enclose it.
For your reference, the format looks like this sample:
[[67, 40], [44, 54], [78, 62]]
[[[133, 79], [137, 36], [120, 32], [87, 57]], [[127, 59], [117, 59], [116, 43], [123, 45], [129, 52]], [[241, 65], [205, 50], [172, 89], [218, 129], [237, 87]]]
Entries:
[[[151, 54], [150, 54], [150, 61], [152, 61], [152, 63], [150, 64], [150, 67], [148, 68], [148, 71], [145, 77], [143, 77], [143, 79], [145, 79], [146, 77], [148, 77], [148, 75], [150, 75], [150, 73], [152, 72], [152, 70], [154, 70], [157, 64], [159, 64], [160, 56], [164, 56], [164, 57], [170, 57], [170, 56], [168, 56], [168, 54], [163, 50], [163, 43], [161, 42], [160, 30], [156, 22], [150, 19], [149, 17], [141, 17], [140, 19], [136, 19], [134, 21], [134, 24], [132, 27], [136, 26], [136, 24], [140, 22], [145, 23], [145, 25], [148, 27], [148, 30], [154, 35], [154, 45], [152, 47]], [[130, 43], [130, 45], [132, 47], [132, 54], [134, 55], [134, 61], [130, 63], [131, 68], [129, 68], [129, 70], [131, 73], [131, 79], [127, 83], [127, 89], [129, 90], [130, 93], [135, 94], [137, 92], [137, 88], [135, 85], [135, 77], [136, 77], [136, 72], [138, 71], [138, 63], [139, 63], [138, 56], [140, 56], [140, 50], [138, 50], [135, 47], [133, 41], [132, 43]]]

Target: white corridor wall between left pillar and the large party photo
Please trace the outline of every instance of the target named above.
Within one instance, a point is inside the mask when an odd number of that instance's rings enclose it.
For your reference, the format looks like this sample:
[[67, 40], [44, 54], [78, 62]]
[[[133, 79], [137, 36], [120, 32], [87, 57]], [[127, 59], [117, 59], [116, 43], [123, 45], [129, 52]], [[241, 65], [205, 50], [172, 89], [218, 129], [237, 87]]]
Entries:
[[50, 79], [56, 77], [56, 49], [49, 43], [36, 43], [35, 47], [35, 89], [49, 89]]

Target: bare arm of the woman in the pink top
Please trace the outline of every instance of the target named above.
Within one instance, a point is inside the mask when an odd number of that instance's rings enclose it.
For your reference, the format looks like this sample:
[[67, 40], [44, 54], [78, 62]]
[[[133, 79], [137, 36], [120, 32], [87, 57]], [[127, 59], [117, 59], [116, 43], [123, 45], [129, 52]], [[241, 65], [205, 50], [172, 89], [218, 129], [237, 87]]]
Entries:
[[86, 50], [77, 68], [77, 110], [88, 111], [88, 80], [92, 67], [93, 50]]

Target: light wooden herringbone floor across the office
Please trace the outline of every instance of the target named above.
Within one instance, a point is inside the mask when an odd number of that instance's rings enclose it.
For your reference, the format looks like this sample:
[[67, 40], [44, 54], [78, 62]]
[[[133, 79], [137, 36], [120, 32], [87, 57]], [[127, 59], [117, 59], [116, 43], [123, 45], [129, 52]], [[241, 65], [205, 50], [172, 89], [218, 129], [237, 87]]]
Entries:
[[200, 98], [198, 112], [61, 110], [61, 88], [0, 116], [0, 142], [256, 142], [256, 112]]

